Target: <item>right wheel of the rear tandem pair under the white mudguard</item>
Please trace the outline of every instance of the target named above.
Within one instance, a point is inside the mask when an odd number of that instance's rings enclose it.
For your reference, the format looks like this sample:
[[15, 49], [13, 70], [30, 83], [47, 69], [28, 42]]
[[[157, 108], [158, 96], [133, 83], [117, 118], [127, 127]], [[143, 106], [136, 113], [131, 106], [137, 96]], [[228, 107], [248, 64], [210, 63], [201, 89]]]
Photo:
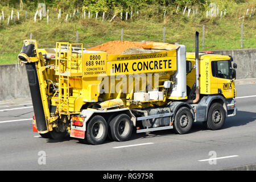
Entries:
[[133, 132], [133, 122], [127, 114], [119, 114], [110, 123], [112, 138], [115, 141], [123, 142], [131, 137]]

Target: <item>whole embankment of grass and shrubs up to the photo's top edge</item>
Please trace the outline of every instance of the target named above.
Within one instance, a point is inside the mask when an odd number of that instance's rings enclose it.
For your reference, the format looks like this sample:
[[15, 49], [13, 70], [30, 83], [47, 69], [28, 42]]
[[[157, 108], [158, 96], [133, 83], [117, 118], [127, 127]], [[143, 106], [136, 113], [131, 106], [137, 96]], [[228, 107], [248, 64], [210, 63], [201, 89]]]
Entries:
[[[49, 24], [46, 17], [39, 17], [34, 22], [38, 3], [46, 3], [49, 9]], [[226, 9], [226, 15], [206, 18], [209, 3], [214, 2], [219, 11]], [[176, 13], [177, 6], [179, 11]], [[184, 7], [198, 9], [199, 14], [183, 15]], [[256, 48], [256, 0], [1, 0], [0, 10], [5, 12], [5, 20], [0, 23], [0, 64], [17, 63], [16, 56], [22, 48], [23, 40], [30, 37], [38, 41], [39, 47], [55, 47], [56, 42], [76, 42], [76, 31], [79, 31], [79, 42], [85, 48], [97, 46], [112, 40], [120, 40], [123, 28], [123, 40], [141, 42], [142, 40], [162, 42], [163, 27], [166, 27], [166, 42], [178, 42], [186, 46], [187, 51], [194, 51], [195, 31], [200, 33], [200, 51], [203, 51], [203, 28], [205, 26], [205, 49], [241, 48], [241, 23], [243, 23], [243, 48]], [[61, 9], [61, 18], [57, 14]], [[66, 14], [75, 15], [65, 21]], [[246, 10], [249, 14], [246, 15]], [[7, 18], [14, 10], [19, 11], [20, 19], [7, 24]], [[24, 19], [27, 10], [27, 19]], [[91, 17], [81, 17], [81, 12], [90, 11]], [[95, 12], [100, 18], [95, 18]], [[101, 20], [103, 12], [105, 20]], [[134, 12], [133, 19], [125, 19], [125, 11]], [[139, 16], [135, 14], [139, 11]], [[163, 17], [164, 11], [166, 16]], [[123, 20], [120, 13], [123, 12]], [[1, 12], [0, 12], [1, 13]], [[116, 18], [110, 22], [113, 15]], [[1, 14], [0, 14], [1, 15]], [[88, 14], [87, 14], [88, 15]], [[241, 18], [243, 17], [243, 18]]]

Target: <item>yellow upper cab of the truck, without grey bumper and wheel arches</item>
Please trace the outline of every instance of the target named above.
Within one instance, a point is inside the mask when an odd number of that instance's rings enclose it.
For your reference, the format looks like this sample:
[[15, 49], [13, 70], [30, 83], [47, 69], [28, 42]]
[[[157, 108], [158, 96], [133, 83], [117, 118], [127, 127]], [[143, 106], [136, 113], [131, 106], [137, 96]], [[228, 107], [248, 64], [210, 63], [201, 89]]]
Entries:
[[[199, 53], [200, 94], [222, 94], [226, 99], [236, 97], [236, 70], [232, 68], [232, 61], [230, 56]], [[187, 85], [192, 89], [196, 79], [195, 69], [192, 69], [195, 53], [187, 53], [187, 62], [190, 69], [187, 71]]]

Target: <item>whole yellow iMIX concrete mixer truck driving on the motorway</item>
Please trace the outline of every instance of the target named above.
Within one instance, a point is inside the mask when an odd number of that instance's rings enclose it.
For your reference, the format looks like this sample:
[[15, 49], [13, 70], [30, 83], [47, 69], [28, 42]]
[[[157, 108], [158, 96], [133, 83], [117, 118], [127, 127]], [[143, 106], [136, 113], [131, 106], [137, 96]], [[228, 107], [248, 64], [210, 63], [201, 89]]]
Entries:
[[130, 42], [135, 46], [108, 53], [68, 42], [39, 49], [24, 40], [18, 59], [27, 70], [35, 131], [101, 144], [128, 140], [133, 130], [186, 134], [193, 122], [221, 129], [236, 115], [237, 65], [231, 56], [199, 53], [198, 37], [191, 53], [169, 43]]

